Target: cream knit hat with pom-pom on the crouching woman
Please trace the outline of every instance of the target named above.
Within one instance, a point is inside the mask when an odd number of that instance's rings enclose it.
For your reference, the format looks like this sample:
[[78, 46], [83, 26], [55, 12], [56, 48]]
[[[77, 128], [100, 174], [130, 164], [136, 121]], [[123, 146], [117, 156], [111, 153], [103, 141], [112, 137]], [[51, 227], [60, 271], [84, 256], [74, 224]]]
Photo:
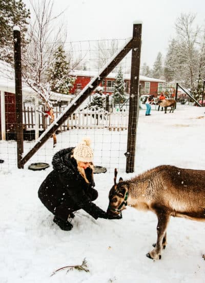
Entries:
[[73, 157], [77, 161], [81, 162], [92, 162], [93, 161], [93, 150], [90, 147], [91, 140], [85, 137], [81, 143], [79, 143], [73, 151]]

